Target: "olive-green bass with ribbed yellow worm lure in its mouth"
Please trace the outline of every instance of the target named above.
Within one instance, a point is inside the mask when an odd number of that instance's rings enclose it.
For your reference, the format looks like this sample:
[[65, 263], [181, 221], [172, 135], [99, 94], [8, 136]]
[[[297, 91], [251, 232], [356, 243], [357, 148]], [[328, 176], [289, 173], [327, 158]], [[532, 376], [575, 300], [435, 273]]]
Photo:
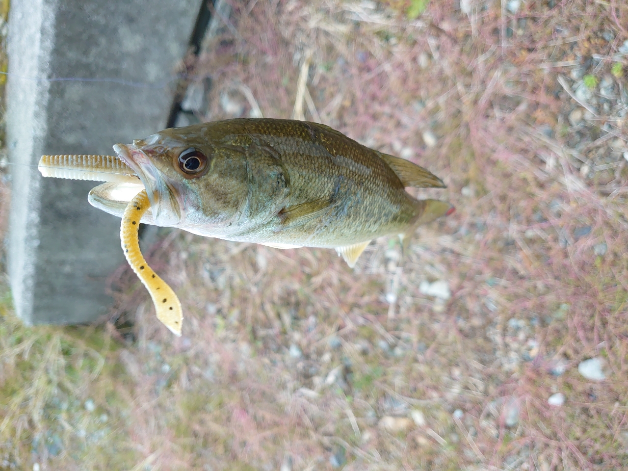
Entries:
[[[178, 300], [174, 293], [160, 298], [159, 290], [170, 288], [143, 258], [127, 253], [139, 254], [139, 222], [281, 249], [334, 248], [353, 267], [372, 239], [399, 234], [407, 246], [418, 225], [453, 212], [449, 203], [406, 192], [445, 188], [430, 171], [313, 122], [229, 119], [165, 129], [114, 150], [117, 158], [43, 156], [40, 170], [107, 181], [88, 200], [124, 214], [125, 254], [162, 317]], [[175, 333], [178, 310], [169, 326]]]

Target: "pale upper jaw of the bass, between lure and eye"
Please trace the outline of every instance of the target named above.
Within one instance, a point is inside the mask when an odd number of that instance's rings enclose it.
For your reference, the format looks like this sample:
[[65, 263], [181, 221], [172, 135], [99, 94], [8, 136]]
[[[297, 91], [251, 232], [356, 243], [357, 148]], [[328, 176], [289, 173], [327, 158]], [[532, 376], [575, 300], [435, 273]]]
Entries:
[[114, 151], [126, 165], [138, 175], [151, 202], [154, 224], [175, 226], [181, 222], [181, 205], [175, 188], [168, 185], [161, 172], [151, 163], [150, 158], [136, 144], [116, 144]]

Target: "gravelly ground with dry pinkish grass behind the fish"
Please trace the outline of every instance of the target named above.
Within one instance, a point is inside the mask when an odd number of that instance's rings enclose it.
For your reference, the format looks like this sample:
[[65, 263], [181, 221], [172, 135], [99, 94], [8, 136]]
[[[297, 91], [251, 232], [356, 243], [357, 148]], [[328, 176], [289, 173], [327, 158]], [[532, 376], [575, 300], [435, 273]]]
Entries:
[[0, 469], [628, 467], [628, 4], [230, 6], [190, 119], [323, 122], [457, 212], [354, 269], [162, 230], [181, 338], [126, 266], [95, 327], [25, 328], [3, 281]]

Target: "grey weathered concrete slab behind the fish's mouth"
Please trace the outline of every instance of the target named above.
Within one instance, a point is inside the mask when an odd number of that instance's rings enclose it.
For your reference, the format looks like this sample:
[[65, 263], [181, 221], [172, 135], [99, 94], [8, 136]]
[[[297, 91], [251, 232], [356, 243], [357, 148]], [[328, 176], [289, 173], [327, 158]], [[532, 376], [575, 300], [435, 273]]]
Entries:
[[[173, 99], [166, 82], [199, 8], [200, 0], [11, 4], [7, 143], [18, 165], [7, 246], [24, 322], [92, 322], [111, 303], [107, 276], [124, 261], [120, 220], [87, 203], [94, 183], [41, 178], [41, 154], [111, 154], [112, 144], [163, 129]], [[65, 77], [73, 80], [55, 80]]]

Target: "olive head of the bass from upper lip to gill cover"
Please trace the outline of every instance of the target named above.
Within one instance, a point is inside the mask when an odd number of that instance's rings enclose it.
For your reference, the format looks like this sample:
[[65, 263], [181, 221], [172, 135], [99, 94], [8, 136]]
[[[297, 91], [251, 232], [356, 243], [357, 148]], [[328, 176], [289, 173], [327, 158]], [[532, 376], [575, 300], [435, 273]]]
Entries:
[[246, 156], [206, 131], [170, 128], [114, 146], [146, 188], [156, 225], [220, 227], [236, 217], [247, 195]]

